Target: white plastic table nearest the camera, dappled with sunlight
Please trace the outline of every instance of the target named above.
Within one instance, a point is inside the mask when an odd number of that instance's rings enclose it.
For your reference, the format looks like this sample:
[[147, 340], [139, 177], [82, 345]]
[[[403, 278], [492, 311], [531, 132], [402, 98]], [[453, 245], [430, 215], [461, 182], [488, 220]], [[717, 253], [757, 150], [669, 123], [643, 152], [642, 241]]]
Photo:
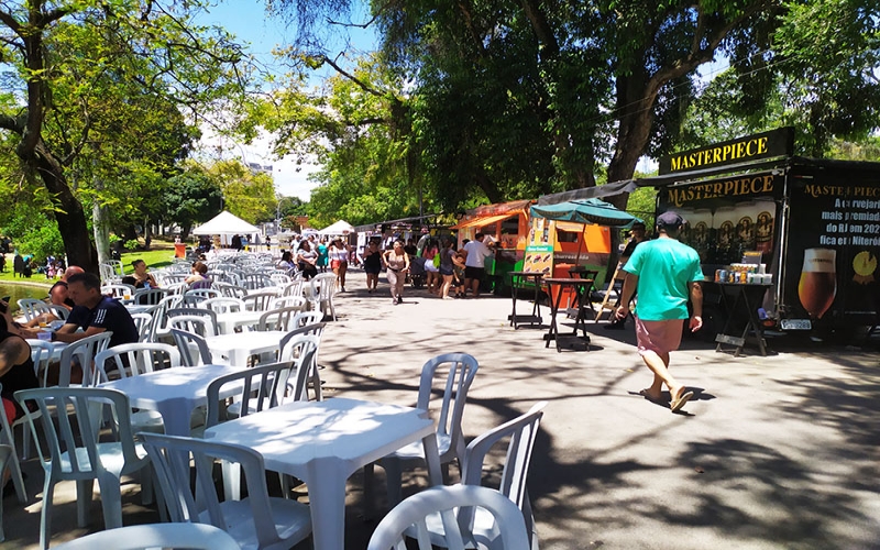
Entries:
[[435, 422], [411, 407], [339, 397], [293, 402], [208, 428], [205, 439], [253, 449], [266, 470], [306, 482], [317, 550], [344, 547], [345, 482], [366, 464], [421, 440], [430, 483], [442, 483]]

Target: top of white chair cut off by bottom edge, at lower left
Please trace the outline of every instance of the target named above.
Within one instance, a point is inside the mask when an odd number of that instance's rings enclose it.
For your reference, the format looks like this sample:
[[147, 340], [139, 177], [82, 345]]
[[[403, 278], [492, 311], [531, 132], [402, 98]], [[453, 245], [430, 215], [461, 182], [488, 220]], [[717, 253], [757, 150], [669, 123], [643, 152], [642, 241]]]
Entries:
[[53, 550], [146, 550], [173, 548], [191, 550], [241, 550], [224, 530], [205, 524], [150, 524], [92, 532]]

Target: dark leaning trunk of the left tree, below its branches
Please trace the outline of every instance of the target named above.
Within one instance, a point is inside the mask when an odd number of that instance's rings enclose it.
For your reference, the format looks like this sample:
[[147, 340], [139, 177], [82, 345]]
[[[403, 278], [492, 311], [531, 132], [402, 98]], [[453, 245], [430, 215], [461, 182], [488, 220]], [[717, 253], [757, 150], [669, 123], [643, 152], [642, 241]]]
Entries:
[[35, 154], [25, 158], [29, 165], [36, 168], [40, 178], [46, 186], [55, 205], [55, 219], [64, 241], [67, 265], [78, 265], [89, 273], [98, 275], [98, 254], [89, 240], [86, 224], [86, 212], [67, 185], [61, 163], [45, 148], [42, 140], [35, 147]]

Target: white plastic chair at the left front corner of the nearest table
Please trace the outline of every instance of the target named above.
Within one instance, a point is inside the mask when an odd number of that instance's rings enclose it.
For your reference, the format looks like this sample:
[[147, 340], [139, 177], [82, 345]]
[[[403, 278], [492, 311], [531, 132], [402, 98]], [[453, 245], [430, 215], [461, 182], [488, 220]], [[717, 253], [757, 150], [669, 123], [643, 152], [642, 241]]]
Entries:
[[[311, 532], [308, 506], [268, 496], [263, 458], [256, 451], [155, 433], [144, 433], [143, 438], [172, 521], [211, 524], [226, 530], [242, 548], [261, 550], [287, 550]], [[195, 490], [190, 488], [190, 454], [196, 470]], [[241, 466], [248, 481], [248, 498], [219, 501], [212, 479], [216, 459]]]

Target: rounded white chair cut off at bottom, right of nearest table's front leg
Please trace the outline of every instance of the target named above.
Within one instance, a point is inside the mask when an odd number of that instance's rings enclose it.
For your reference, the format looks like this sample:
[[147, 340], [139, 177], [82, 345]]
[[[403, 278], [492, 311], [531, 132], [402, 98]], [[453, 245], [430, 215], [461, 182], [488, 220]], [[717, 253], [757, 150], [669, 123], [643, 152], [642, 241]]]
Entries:
[[[367, 550], [406, 550], [405, 532], [415, 528], [420, 550], [431, 550], [431, 536], [425, 518], [439, 514], [446, 531], [443, 548], [464, 550], [474, 548], [466, 525], [462, 526], [457, 510], [477, 506], [491, 514], [498, 530], [503, 550], [529, 550], [522, 515], [507, 497], [487, 487], [453, 485], [431, 487], [410, 496], [394, 507], [376, 526], [370, 538]], [[464, 508], [463, 508], [464, 507]]]

